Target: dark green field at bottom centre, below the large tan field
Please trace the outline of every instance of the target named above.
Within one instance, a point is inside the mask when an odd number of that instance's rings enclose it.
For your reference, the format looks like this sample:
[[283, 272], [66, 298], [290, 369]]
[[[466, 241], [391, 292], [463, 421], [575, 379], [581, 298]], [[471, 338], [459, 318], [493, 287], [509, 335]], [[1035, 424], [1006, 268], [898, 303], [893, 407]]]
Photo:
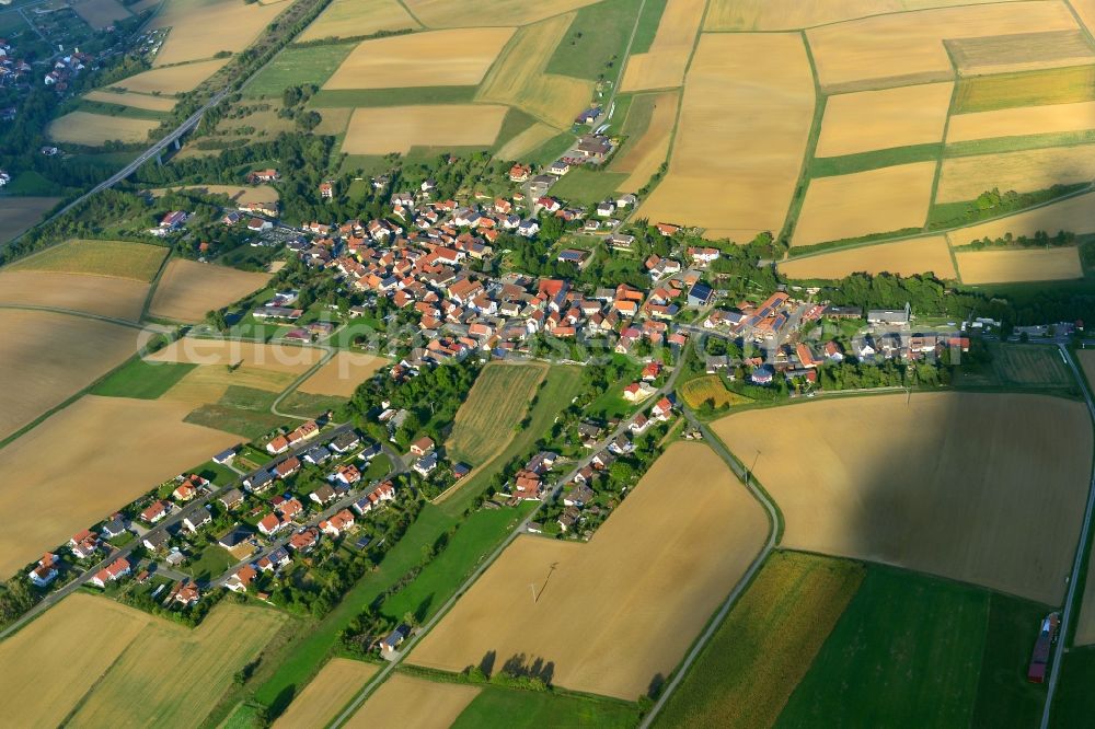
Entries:
[[592, 696], [485, 686], [457, 717], [452, 729], [543, 729], [592, 727], [625, 729], [638, 724], [634, 704]]

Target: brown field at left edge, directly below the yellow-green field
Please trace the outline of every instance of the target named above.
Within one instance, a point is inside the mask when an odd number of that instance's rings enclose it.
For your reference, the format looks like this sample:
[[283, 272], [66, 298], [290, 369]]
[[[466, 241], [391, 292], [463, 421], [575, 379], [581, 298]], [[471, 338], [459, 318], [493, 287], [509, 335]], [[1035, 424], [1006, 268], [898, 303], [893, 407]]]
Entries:
[[148, 285], [85, 274], [0, 270], [0, 304], [50, 306], [136, 322]]

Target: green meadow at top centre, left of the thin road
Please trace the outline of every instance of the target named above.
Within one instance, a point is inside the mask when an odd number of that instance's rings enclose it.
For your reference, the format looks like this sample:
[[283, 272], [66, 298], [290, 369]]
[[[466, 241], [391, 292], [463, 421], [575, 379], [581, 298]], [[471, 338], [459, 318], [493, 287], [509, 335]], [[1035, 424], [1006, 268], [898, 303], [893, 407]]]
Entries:
[[546, 72], [615, 81], [637, 10], [634, 0], [603, 0], [579, 10], [548, 61]]

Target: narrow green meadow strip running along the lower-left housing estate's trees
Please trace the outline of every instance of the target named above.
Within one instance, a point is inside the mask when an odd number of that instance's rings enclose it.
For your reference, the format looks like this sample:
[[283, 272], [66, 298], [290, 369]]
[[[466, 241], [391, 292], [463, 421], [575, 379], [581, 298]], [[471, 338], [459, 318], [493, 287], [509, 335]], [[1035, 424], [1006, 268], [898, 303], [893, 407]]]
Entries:
[[456, 520], [441, 509], [426, 505], [414, 524], [381, 560], [379, 569], [367, 574], [311, 632], [286, 653], [278, 670], [255, 691], [255, 701], [284, 708], [320, 669], [338, 641], [338, 634], [367, 605], [422, 560], [422, 547], [434, 544]]

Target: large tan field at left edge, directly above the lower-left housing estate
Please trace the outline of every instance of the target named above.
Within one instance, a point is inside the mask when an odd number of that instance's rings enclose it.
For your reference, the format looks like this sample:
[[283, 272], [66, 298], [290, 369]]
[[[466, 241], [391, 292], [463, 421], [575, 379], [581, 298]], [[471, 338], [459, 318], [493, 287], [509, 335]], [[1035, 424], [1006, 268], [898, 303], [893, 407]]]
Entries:
[[[0, 532], [0, 575], [239, 442], [183, 423], [189, 412], [185, 403], [85, 395], [0, 450], [0, 508], [11, 514]], [[28, 509], [32, 493], [48, 508]]]

